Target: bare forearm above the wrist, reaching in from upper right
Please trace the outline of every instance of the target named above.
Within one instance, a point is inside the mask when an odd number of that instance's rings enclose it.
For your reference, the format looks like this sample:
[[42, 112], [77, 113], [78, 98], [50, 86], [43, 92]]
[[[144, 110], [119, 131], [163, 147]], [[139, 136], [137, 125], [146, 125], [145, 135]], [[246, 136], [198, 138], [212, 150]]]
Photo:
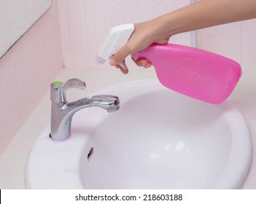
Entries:
[[256, 0], [201, 0], [156, 20], [163, 26], [163, 30], [159, 29], [159, 34], [173, 36], [255, 17]]

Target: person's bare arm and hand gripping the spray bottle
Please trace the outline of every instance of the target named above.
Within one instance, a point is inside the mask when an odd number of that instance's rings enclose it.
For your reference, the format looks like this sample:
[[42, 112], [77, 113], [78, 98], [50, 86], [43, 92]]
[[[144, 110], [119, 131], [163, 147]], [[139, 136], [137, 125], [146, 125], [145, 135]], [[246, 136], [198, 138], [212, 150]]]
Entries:
[[[136, 23], [129, 41], [117, 51], [109, 63], [118, 67], [117, 64], [133, 52], [143, 50], [153, 42], [165, 44], [174, 34], [255, 17], [256, 0], [201, 0], [144, 23]], [[136, 63], [138, 66], [151, 66], [146, 60]], [[124, 74], [127, 72], [123, 71]]]

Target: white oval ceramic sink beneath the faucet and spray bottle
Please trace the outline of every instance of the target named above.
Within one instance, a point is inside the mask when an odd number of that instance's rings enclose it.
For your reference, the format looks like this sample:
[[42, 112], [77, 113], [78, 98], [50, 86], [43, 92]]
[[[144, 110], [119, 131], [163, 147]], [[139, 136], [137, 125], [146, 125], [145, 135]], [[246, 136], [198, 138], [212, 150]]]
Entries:
[[156, 79], [107, 87], [120, 109], [83, 109], [71, 137], [49, 138], [28, 157], [29, 189], [237, 189], [251, 161], [246, 122], [229, 101], [212, 105]]

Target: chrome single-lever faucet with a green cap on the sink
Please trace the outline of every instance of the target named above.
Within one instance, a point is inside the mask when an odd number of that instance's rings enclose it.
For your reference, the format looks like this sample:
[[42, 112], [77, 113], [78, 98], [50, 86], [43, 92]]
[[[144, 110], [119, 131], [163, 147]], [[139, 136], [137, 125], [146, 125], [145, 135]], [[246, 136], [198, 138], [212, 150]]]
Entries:
[[69, 103], [66, 101], [66, 90], [79, 88], [85, 90], [85, 82], [81, 79], [69, 79], [66, 83], [53, 82], [50, 86], [50, 99], [52, 101], [50, 138], [65, 140], [69, 138], [71, 120], [74, 114], [91, 106], [98, 106], [108, 112], [119, 109], [119, 99], [115, 95], [93, 95]]

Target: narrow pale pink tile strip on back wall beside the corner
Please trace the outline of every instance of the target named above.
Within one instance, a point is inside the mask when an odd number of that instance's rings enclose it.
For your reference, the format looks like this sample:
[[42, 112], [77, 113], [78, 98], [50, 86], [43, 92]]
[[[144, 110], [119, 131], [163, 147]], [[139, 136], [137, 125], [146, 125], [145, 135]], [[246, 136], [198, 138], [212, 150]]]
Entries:
[[61, 46], [64, 65], [68, 68], [87, 66], [84, 13], [82, 0], [58, 0], [58, 16], [61, 23]]

